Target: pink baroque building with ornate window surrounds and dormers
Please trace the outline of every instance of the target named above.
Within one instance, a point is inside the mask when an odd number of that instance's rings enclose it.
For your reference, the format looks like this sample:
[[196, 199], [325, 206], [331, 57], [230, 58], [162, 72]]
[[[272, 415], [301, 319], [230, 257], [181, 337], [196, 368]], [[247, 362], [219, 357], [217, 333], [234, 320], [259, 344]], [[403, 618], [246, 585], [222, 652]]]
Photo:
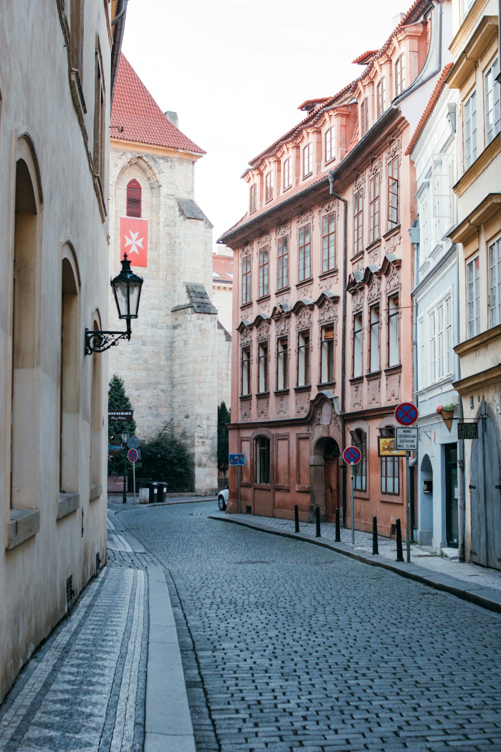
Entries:
[[[413, 398], [415, 172], [406, 147], [441, 70], [450, 2], [418, 0], [358, 80], [303, 102], [303, 120], [249, 162], [234, 249], [230, 451], [241, 511], [405, 529], [403, 460], [379, 456]], [[237, 511], [230, 477], [228, 511]]]

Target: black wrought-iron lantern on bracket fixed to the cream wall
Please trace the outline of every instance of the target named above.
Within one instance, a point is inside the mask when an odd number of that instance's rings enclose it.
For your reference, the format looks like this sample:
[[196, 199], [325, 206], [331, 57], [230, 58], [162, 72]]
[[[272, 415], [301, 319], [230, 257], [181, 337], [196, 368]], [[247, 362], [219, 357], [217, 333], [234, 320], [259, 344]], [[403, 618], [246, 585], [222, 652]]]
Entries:
[[99, 332], [91, 329], [85, 330], [85, 354], [104, 353], [108, 347], [118, 344], [120, 339], [131, 338], [131, 319], [137, 319], [139, 299], [143, 277], [138, 277], [131, 271], [131, 262], [124, 253], [122, 259], [122, 271], [113, 280], [110, 280], [115, 296], [116, 310], [119, 319], [127, 321], [125, 332]]

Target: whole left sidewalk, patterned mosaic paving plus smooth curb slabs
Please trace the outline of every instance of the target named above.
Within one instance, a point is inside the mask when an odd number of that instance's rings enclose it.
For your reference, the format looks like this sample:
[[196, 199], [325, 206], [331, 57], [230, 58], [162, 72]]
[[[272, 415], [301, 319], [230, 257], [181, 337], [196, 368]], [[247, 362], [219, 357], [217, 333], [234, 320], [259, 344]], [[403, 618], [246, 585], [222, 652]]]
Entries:
[[164, 572], [115, 511], [107, 566], [0, 706], [0, 750], [195, 752]]

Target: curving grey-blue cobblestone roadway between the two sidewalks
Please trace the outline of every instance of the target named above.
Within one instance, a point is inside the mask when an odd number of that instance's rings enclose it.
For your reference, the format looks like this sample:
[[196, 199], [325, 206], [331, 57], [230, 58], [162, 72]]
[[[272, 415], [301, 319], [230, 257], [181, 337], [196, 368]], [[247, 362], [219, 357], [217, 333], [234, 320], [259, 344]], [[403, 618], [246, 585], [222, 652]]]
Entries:
[[120, 514], [168, 570], [198, 752], [501, 750], [499, 615], [215, 511]]

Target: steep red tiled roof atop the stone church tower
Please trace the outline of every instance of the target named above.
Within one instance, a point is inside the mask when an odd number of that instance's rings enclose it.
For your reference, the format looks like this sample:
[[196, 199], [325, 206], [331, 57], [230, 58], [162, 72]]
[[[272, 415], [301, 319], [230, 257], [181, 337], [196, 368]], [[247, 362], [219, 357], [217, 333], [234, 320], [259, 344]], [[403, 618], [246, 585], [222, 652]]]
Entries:
[[[116, 76], [110, 133], [121, 141], [171, 147], [205, 154], [165, 117], [123, 53]], [[123, 126], [123, 132], [119, 128]]]

